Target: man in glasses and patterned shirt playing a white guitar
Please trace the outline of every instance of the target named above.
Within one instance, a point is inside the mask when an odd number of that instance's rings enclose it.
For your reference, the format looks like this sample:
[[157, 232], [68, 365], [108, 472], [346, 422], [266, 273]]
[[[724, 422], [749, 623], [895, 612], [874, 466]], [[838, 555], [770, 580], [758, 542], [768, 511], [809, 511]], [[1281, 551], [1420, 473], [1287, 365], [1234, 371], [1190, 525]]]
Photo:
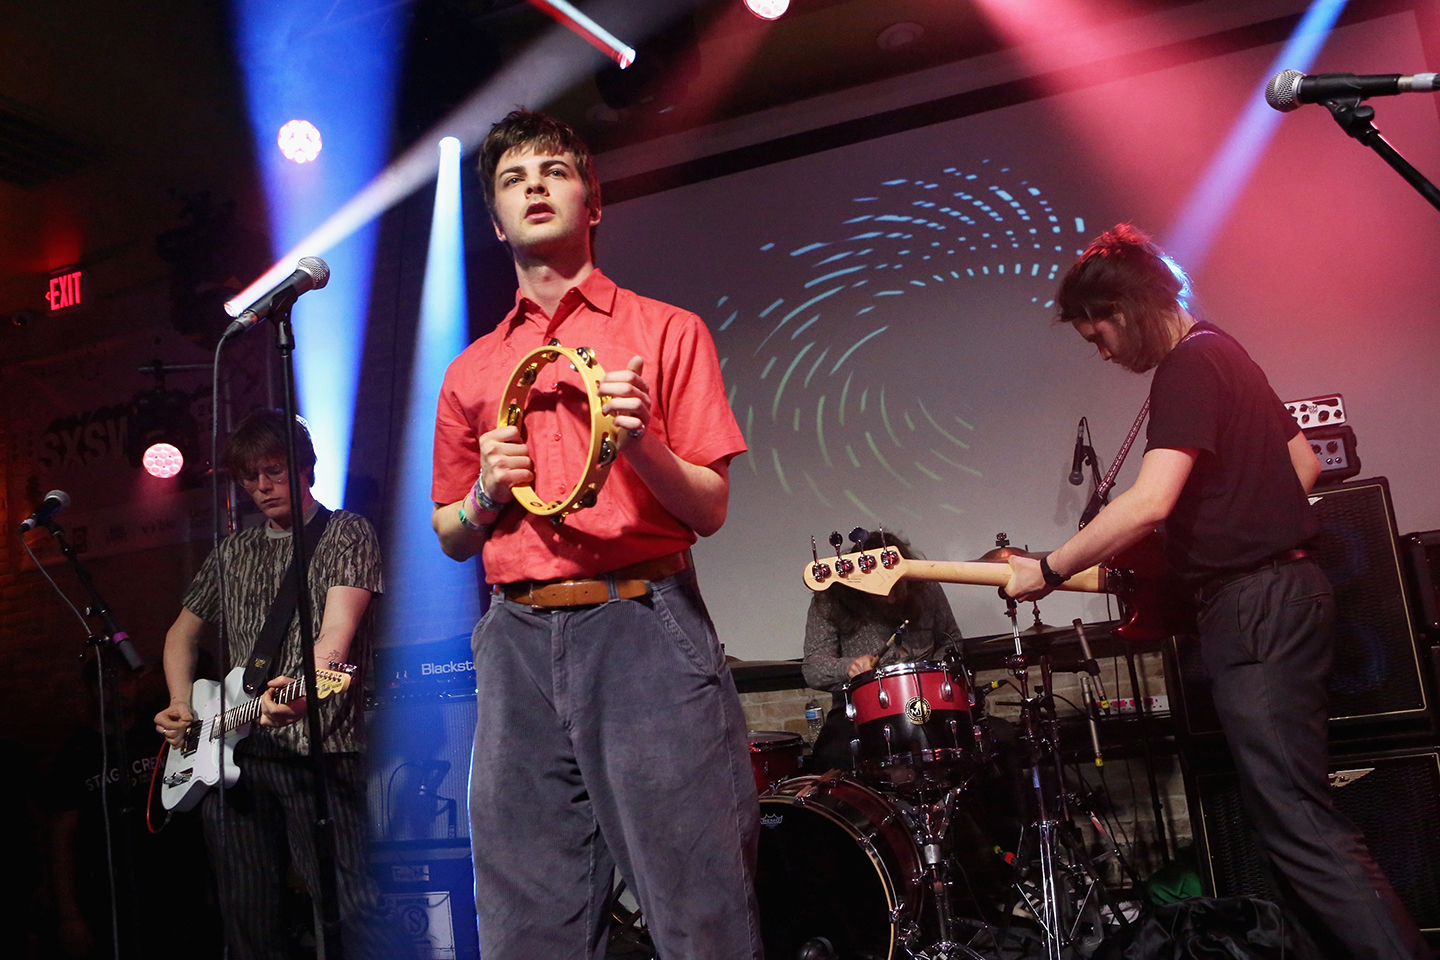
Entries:
[[[305, 715], [310, 698], [292, 679], [301, 675], [300, 658], [305, 653], [300, 649], [295, 592], [292, 586], [285, 590], [285, 584], [294, 583], [285, 433], [281, 412], [256, 410], [240, 420], [226, 442], [223, 466], [255, 501], [265, 524], [228, 537], [192, 581], [180, 616], [166, 633], [170, 705], [156, 715], [156, 728], [170, 744], [163, 794], [174, 809], [200, 806], [233, 960], [287, 956], [281, 910], [287, 864], [295, 866], [311, 897], [318, 895], [310, 829], [314, 797], [308, 735], [305, 724], [295, 723]], [[327, 695], [350, 685], [353, 668], [337, 671], [337, 665], [369, 661], [370, 599], [382, 590], [379, 541], [366, 518], [343, 510], [331, 512], [311, 497], [315, 449], [302, 422], [297, 423], [295, 449], [305, 474], [300, 507], [311, 551], [315, 619], [311, 655], [323, 697], [327, 799], [336, 822], [344, 950], [351, 960], [415, 956], [413, 946], [380, 911], [374, 881], [366, 872], [366, 780], [360, 756], [364, 712], [359, 684], [351, 692]], [[204, 687], [207, 681], [196, 682], [194, 672], [206, 623], [222, 616], [230, 662], [236, 665], [226, 678], [225, 707], [226, 718], [235, 720], [217, 724], [212, 720], [216, 710], [204, 695], [215, 691]], [[327, 687], [327, 678], [338, 682]], [[259, 699], [256, 694], [262, 694]], [[210, 735], [216, 730], [232, 731], [223, 747], [222, 738]], [[223, 764], [206, 763], [232, 747], [233, 757], [226, 756]], [[226, 767], [228, 786], [223, 818], [220, 790], [206, 790], [207, 784], [200, 783], [206, 771], [213, 783], [220, 766]], [[232, 786], [236, 773], [239, 779]], [[184, 882], [184, 868], [179, 864], [176, 882]]]

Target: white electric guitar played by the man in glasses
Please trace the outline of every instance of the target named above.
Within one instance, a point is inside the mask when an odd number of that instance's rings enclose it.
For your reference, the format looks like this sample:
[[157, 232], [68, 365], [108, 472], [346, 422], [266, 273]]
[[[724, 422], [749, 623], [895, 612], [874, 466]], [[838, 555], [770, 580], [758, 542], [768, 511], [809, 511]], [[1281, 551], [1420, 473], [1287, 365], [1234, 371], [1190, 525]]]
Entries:
[[[350, 664], [330, 664], [330, 669], [315, 671], [315, 698], [350, 687], [356, 668]], [[274, 689], [275, 702], [288, 704], [305, 695], [305, 681], [297, 679]], [[235, 786], [240, 769], [235, 766], [235, 744], [251, 733], [251, 724], [261, 715], [261, 698], [245, 692], [245, 668], [236, 666], [225, 678], [225, 702], [235, 704], [220, 714], [220, 684], [197, 679], [190, 691], [190, 710], [196, 720], [186, 728], [180, 748], [166, 753], [166, 773], [160, 782], [160, 802], [167, 810], [189, 810], [206, 790], [220, 782], [220, 757], [225, 757], [225, 786]]]

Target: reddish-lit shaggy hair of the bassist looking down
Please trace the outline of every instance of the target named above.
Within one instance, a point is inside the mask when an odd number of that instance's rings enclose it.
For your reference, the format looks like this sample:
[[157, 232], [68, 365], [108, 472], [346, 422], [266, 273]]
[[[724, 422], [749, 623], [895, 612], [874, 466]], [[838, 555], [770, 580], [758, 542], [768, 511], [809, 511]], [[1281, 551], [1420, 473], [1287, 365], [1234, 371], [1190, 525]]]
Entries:
[[1092, 240], [1066, 271], [1056, 311], [1067, 324], [1123, 317], [1136, 348], [1132, 368], [1143, 373], [1169, 350], [1169, 318], [1182, 286], [1148, 235], [1117, 223]]

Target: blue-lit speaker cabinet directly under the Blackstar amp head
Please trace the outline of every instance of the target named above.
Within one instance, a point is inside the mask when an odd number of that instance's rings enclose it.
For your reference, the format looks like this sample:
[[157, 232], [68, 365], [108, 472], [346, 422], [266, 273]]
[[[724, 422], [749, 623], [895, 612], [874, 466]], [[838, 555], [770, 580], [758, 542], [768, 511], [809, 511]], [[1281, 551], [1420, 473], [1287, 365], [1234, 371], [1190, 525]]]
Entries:
[[366, 728], [370, 839], [468, 838], [474, 692], [382, 701], [366, 711]]

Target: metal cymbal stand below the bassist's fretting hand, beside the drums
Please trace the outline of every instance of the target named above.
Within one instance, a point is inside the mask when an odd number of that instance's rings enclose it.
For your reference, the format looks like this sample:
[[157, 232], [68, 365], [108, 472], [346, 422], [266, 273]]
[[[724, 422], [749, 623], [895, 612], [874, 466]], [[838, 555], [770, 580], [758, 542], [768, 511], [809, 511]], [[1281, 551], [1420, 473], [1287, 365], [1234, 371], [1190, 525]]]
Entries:
[[[1007, 616], [1015, 638], [1015, 653], [1005, 659], [1005, 666], [1020, 688], [1021, 743], [1027, 746], [1030, 780], [1035, 797], [1035, 820], [1021, 832], [1020, 851], [1015, 858], [1015, 901], [1024, 901], [1040, 925], [1045, 947], [1045, 960], [1089, 956], [1099, 946], [1099, 907], [1103, 901], [1112, 914], [1123, 923], [1117, 904], [1110, 901], [1094, 861], [1084, 852], [1073, 823], [1071, 797], [1064, 789], [1064, 764], [1060, 756], [1060, 735], [1051, 695], [1051, 671], [1048, 652], [1037, 658], [1041, 689], [1031, 695], [1030, 658], [1020, 635], [1017, 604], [1007, 597]], [[1043, 767], [1054, 771], [1054, 787], [1047, 790]], [[1038, 897], [1027, 887], [1025, 875], [1038, 862]], [[1083, 892], [1081, 892], [1083, 888]], [[1007, 911], [1007, 925], [1011, 911]], [[1083, 928], [1086, 921], [1089, 928]], [[1086, 950], [1089, 947], [1089, 950]]]

